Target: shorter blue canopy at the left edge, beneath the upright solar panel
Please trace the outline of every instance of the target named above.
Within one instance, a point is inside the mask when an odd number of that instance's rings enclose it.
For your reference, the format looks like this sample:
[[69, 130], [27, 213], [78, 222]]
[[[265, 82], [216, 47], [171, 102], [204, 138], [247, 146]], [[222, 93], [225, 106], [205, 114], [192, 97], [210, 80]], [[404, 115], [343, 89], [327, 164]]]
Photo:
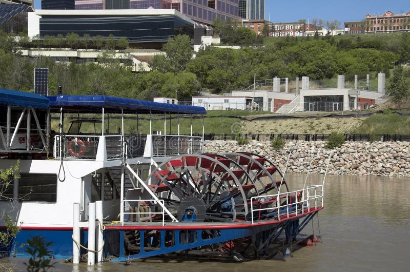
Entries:
[[0, 89], [0, 104], [48, 109], [50, 101], [43, 95]]

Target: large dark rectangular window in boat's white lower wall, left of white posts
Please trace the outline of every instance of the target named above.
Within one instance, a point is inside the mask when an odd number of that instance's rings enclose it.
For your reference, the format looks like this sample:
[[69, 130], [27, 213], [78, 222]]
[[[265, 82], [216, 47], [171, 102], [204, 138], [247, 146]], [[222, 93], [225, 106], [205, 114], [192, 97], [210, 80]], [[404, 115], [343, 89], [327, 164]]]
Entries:
[[57, 175], [21, 173], [18, 180], [19, 201], [56, 202]]

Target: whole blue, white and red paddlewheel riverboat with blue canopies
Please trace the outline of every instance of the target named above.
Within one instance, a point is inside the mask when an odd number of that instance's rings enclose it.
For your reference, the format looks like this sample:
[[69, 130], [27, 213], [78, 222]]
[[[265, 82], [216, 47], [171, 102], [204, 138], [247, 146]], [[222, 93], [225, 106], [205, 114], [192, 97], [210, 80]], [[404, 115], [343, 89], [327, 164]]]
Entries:
[[[1, 89], [0, 110], [0, 168], [19, 160], [20, 171], [0, 208], [21, 222], [13, 242], [45, 237], [55, 258], [88, 253], [93, 264], [183, 251], [242, 260], [249, 245], [260, 257], [283, 234], [295, 241], [323, 208], [321, 182], [291, 189], [258, 154], [204, 153], [202, 107]], [[125, 116], [136, 133], [125, 133]], [[189, 135], [180, 134], [182, 116]], [[158, 117], [163, 130], [153, 132]]]

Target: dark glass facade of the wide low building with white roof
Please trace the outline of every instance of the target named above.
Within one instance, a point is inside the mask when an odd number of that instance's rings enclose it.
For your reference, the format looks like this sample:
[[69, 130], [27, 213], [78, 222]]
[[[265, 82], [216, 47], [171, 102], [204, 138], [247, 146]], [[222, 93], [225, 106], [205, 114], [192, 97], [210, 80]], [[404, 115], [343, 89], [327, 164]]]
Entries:
[[167, 42], [178, 34], [194, 35], [194, 24], [170, 15], [43, 15], [40, 18], [40, 38], [45, 35], [77, 33], [83, 36], [102, 35], [128, 37], [130, 43]]

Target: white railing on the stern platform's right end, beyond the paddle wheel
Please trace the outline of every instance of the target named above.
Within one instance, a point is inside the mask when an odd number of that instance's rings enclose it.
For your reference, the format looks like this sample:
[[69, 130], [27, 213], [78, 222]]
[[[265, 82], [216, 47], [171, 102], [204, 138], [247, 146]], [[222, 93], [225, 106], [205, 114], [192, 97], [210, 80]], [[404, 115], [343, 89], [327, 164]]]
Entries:
[[[283, 203], [281, 204], [281, 200]], [[254, 204], [255, 203], [255, 204]], [[319, 205], [320, 204], [320, 205]], [[254, 208], [258, 205], [260, 208]], [[271, 207], [263, 207], [268, 206]], [[300, 215], [310, 212], [311, 209], [323, 206], [323, 185], [312, 185], [302, 190], [277, 193], [276, 195], [257, 196], [251, 198], [251, 216], [252, 224], [254, 224], [254, 212], [259, 212], [258, 221], [260, 220], [261, 212], [271, 214], [271, 219], [276, 217], [279, 221], [281, 218], [289, 218], [290, 215]], [[267, 218], [269, 219], [269, 218]]]

